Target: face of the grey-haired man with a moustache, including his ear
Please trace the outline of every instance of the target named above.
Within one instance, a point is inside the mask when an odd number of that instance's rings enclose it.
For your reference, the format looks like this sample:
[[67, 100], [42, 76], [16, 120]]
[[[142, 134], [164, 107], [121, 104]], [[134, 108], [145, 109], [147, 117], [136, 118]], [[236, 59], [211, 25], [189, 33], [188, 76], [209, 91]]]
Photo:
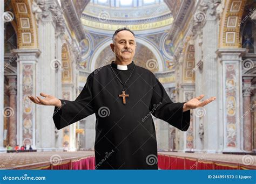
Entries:
[[135, 54], [135, 38], [130, 31], [120, 31], [116, 35], [116, 43], [111, 44], [112, 51], [121, 61], [132, 61]]

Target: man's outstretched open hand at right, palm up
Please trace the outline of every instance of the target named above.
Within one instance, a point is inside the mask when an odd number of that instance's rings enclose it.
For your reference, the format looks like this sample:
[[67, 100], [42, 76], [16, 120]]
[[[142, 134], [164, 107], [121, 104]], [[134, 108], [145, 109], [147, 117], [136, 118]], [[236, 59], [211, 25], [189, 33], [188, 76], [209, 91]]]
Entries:
[[200, 95], [196, 98], [192, 98], [190, 101], [184, 103], [183, 105], [183, 112], [190, 110], [190, 109], [196, 109], [199, 107], [204, 107], [205, 105], [207, 105], [208, 103], [214, 101], [216, 99], [215, 96], [212, 96], [211, 98], [200, 102], [199, 100], [201, 100], [205, 95]]

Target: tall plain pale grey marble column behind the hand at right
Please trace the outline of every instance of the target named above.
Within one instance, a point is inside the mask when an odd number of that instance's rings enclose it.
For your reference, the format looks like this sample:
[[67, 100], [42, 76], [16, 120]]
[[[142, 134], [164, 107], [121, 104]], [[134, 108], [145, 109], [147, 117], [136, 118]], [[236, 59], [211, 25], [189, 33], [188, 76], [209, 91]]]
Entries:
[[[218, 20], [215, 15], [214, 3], [212, 1], [205, 1], [207, 6], [202, 11], [205, 11], [205, 22], [203, 24], [203, 73], [200, 86], [203, 88], [203, 94], [205, 95], [203, 100], [218, 94], [218, 73], [215, 51], [218, 48]], [[207, 58], [207, 59], [205, 59]], [[201, 95], [201, 94], [200, 94]], [[220, 122], [218, 119], [218, 105], [217, 102], [212, 102], [201, 108], [203, 111], [203, 130], [204, 130], [204, 151], [208, 153], [215, 153], [219, 149], [220, 140], [218, 127]]]

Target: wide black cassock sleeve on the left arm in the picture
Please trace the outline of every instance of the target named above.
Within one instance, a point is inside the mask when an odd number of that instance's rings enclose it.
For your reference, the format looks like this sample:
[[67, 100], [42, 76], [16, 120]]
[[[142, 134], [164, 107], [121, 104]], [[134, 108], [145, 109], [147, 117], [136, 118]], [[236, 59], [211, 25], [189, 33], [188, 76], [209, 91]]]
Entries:
[[62, 106], [55, 107], [52, 117], [58, 130], [95, 113], [92, 103], [92, 78], [92, 75], [87, 77], [85, 86], [75, 101], [59, 99]]

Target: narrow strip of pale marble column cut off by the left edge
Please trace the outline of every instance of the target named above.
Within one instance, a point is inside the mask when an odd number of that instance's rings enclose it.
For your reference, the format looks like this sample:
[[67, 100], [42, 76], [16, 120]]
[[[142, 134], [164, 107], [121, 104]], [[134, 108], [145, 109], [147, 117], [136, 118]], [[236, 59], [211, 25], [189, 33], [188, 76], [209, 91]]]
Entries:
[[[0, 2], [0, 112], [4, 111], [4, 1]], [[5, 152], [4, 145], [4, 117], [0, 116], [0, 152]]]

